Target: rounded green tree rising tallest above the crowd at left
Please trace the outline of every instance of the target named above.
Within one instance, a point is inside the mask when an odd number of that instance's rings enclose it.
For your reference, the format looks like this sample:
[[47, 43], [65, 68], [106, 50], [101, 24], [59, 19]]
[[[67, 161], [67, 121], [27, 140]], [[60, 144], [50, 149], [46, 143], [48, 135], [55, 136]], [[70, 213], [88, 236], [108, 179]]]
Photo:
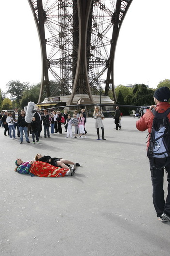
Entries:
[[19, 102], [19, 100], [22, 97], [22, 93], [24, 90], [29, 88], [29, 83], [21, 83], [18, 80], [15, 81], [9, 81], [6, 84], [7, 87], [7, 93], [11, 94], [11, 96], [16, 97], [16, 102]]

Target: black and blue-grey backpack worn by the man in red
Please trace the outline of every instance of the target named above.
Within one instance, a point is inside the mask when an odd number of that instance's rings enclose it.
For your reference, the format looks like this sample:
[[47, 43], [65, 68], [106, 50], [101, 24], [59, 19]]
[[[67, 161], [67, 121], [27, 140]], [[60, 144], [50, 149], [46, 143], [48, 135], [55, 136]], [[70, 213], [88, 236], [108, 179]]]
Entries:
[[[147, 157], [153, 161], [154, 167], [162, 169], [170, 163], [170, 122], [167, 117], [170, 113], [170, 108], [163, 113], [159, 113], [155, 109], [151, 111], [153, 112], [154, 119]], [[155, 158], [162, 158], [162, 166], [156, 166]]]

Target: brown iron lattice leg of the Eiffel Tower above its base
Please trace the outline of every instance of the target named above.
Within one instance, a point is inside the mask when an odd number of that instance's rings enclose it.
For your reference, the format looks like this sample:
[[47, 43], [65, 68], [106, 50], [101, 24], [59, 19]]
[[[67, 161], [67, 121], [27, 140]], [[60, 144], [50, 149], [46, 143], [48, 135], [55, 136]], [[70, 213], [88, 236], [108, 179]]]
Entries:
[[114, 88], [114, 56], [119, 31], [132, 0], [28, 0], [42, 56], [39, 103], [55, 91], [69, 95], [108, 96]]

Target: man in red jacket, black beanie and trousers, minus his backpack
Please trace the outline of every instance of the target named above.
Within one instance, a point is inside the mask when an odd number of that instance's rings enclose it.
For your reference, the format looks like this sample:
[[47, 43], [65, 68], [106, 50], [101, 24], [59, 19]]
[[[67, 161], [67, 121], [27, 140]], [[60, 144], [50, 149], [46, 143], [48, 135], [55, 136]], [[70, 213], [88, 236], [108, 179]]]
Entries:
[[[168, 87], [161, 87], [157, 89], [154, 93], [154, 102], [155, 106], [151, 106], [150, 110], [154, 107], [156, 111], [163, 113], [168, 108], [170, 108], [170, 103], [168, 103], [168, 99], [170, 98], [170, 90]], [[139, 131], [145, 131], [148, 129], [150, 134], [152, 129], [154, 115], [152, 111], [147, 111], [137, 122], [136, 127]], [[168, 114], [168, 119], [170, 121], [170, 113]], [[150, 136], [148, 138], [147, 149], [150, 143]], [[163, 166], [164, 158], [154, 158], [155, 164]], [[167, 173], [167, 181], [168, 181], [168, 194], [166, 197], [166, 201], [164, 200], [164, 168], [157, 169], [153, 164], [153, 160], [149, 158], [150, 163], [150, 171], [151, 171], [151, 180], [153, 185], [153, 204], [156, 210], [156, 214], [158, 220], [162, 222], [170, 222], [170, 163], [165, 166], [165, 171]]]

